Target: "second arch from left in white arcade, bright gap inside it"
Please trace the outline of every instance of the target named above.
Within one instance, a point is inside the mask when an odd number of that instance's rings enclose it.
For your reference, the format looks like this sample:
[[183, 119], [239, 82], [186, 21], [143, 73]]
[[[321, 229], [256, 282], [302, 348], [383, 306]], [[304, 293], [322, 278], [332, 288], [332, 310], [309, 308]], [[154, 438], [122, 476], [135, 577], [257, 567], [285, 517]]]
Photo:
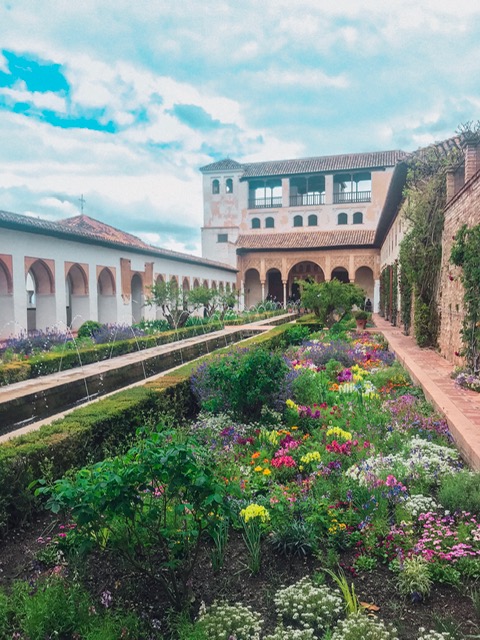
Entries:
[[43, 260], [35, 260], [27, 273], [27, 330], [45, 330], [57, 322], [55, 279]]

